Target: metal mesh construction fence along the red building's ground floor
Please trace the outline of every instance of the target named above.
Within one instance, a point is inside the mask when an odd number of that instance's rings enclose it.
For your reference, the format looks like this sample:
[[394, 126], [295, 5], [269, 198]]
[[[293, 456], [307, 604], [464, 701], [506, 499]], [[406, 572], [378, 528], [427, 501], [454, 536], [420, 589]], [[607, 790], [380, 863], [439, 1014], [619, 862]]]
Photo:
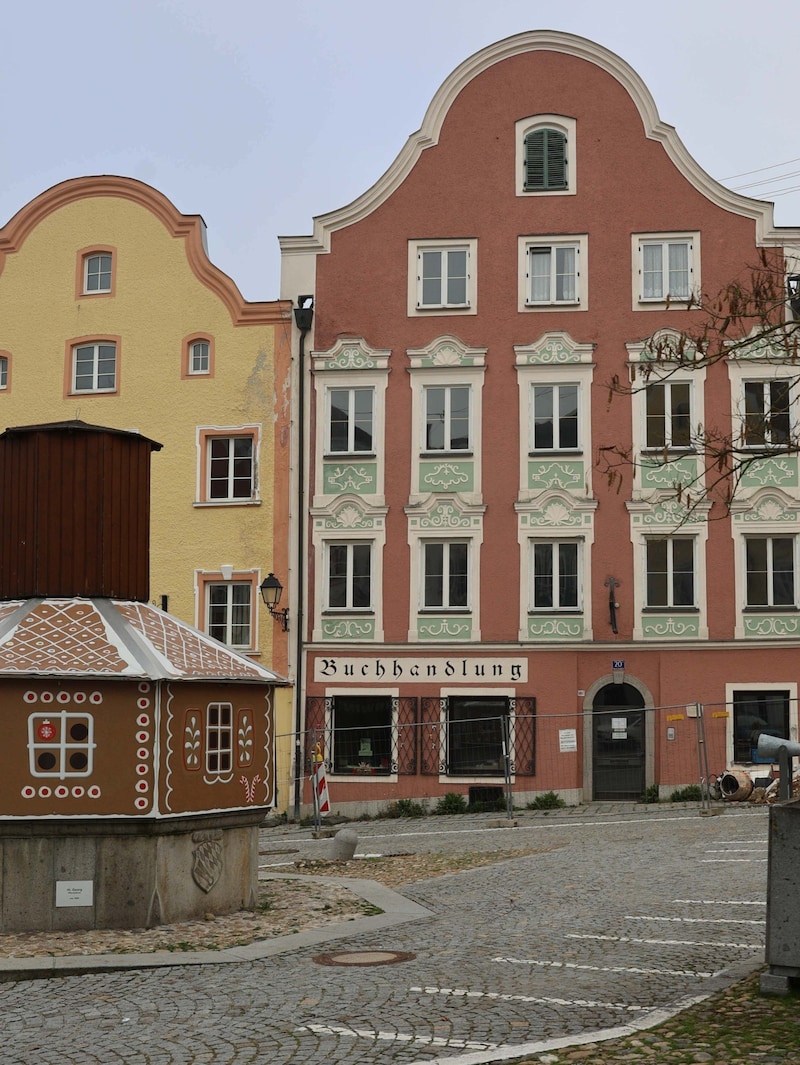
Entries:
[[757, 757], [766, 722], [725, 704], [537, 714], [534, 700], [517, 700], [509, 712], [459, 716], [444, 699], [391, 702], [388, 721], [339, 726], [328, 707], [299, 736], [276, 737], [278, 808], [308, 810], [315, 759], [334, 809], [454, 791], [509, 812], [550, 791], [635, 801], [697, 785], [705, 797], [733, 763], [747, 763], [756, 783], [777, 771]]

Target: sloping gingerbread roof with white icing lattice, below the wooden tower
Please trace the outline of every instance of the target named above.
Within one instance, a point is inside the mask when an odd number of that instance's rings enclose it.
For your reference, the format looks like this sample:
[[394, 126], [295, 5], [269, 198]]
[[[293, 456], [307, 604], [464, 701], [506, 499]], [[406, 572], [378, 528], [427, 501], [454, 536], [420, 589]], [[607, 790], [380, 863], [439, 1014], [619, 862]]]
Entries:
[[0, 677], [31, 675], [287, 684], [149, 603], [0, 602]]

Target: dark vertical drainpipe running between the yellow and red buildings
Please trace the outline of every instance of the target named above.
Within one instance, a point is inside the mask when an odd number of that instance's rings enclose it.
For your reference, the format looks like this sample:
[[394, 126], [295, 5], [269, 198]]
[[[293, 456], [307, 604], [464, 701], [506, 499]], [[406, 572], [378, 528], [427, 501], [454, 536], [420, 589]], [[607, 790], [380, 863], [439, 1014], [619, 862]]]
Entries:
[[295, 608], [295, 670], [294, 670], [294, 819], [300, 818], [303, 802], [303, 648], [305, 642], [306, 597], [306, 334], [314, 321], [314, 297], [298, 296], [294, 321], [300, 331], [297, 354], [297, 606]]

